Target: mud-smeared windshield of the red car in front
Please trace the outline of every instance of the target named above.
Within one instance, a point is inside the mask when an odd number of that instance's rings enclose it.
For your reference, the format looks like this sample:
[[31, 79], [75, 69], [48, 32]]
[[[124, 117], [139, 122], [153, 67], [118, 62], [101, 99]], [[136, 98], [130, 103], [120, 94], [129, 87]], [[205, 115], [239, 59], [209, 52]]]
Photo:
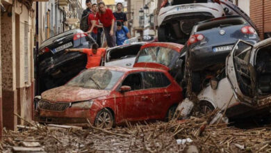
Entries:
[[99, 90], [112, 90], [112, 88], [115, 86], [115, 83], [117, 83], [123, 74], [124, 72], [113, 70], [85, 70], [77, 77], [69, 81], [66, 86], [76, 86]]

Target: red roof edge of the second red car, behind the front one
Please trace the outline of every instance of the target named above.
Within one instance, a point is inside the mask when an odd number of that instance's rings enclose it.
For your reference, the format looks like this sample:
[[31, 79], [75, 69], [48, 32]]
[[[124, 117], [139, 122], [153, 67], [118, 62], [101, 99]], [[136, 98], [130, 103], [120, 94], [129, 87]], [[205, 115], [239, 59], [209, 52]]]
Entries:
[[176, 44], [173, 42], [151, 42], [151, 43], [143, 45], [141, 49], [145, 49], [146, 47], [156, 47], [156, 46], [167, 47], [178, 52], [181, 52], [181, 49], [183, 49], [183, 45]]

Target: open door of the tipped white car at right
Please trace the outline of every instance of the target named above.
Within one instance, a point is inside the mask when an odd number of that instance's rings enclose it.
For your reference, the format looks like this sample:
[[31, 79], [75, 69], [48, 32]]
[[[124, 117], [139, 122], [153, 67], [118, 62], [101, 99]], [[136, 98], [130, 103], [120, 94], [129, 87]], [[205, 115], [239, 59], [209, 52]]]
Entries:
[[241, 104], [253, 106], [256, 101], [256, 74], [253, 67], [253, 45], [238, 40], [227, 56], [226, 74], [236, 99]]

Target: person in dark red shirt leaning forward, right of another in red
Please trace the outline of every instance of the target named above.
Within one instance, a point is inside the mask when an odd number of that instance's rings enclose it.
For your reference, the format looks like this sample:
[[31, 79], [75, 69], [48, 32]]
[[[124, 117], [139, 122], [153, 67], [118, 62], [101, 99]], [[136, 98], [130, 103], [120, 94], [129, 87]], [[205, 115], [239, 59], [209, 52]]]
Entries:
[[106, 42], [108, 47], [116, 46], [116, 36], [115, 31], [117, 29], [117, 23], [115, 22], [115, 17], [111, 9], [106, 8], [104, 2], [98, 4], [99, 12], [96, 18], [99, 19], [101, 24], [104, 26], [104, 34], [106, 35]]

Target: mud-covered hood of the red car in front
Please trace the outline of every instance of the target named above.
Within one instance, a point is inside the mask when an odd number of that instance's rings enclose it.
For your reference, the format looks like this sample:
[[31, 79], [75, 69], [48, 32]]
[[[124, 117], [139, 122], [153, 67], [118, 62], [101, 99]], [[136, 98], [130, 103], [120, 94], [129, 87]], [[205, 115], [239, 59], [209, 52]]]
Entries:
[[42, 92], [42, 99], [49, 102], [78, 102], [108, 95], [110, 90], [95, 90], [74, 86], [60, 86]]

